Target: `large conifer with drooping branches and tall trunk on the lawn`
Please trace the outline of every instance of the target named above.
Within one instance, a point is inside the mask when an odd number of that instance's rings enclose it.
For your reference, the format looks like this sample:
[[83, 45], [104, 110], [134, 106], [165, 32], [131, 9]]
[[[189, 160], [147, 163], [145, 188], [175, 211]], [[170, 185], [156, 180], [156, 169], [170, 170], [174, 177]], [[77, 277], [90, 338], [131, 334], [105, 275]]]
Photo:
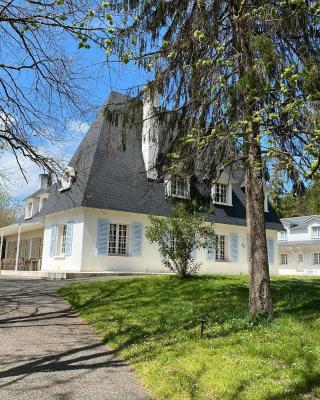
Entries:
[[276, 163], [297, 183], [319, 169], [318, 2], [111, 0], [108, 8], [108, 53], [149, 71], [148, 90], [179, 111], [165, 118], [184, 143], [170, 155], [179, 165], [198, 156], [211, 182], [234, 162], [244, 166], [249, 308], [270, 315], [264, 171]]

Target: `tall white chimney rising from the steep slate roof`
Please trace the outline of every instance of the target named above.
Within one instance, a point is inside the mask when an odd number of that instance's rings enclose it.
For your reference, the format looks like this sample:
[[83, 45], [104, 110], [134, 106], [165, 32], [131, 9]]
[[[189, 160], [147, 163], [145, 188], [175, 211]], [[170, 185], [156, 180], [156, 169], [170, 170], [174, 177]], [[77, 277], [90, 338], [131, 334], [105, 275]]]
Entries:
[[155, 168], [159, 152], [159, 120], [157, 108], [160, 106], [160, 95], [153, 98], [146, 93], [143, 100], [142, 155], [148, 179], [157, 179]]

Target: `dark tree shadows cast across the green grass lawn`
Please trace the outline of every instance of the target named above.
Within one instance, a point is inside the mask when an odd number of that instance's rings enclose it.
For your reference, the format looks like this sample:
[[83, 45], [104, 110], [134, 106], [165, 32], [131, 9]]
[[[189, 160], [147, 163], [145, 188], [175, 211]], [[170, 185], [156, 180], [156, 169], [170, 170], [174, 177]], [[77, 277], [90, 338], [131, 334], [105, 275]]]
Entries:
[[[104, 333], [106, 343], [116, 344], [116, 350], [125, 351], [126, 359], [132, 363], [145, 360], [155, 360], [158, 354], [168, 349], [174, 349], [176, 343], [183, 346], [188, 340], [200, 336], [200, 321], [205, 318], [210, 328], [211, 324], [221, 325], [215, 332], [205, 331], [199, 340], [224, 338], [237, 332], [255, 330], [258, 325], [268, 324], [265, 320], [252, 321], [247, 312], [248, 287], [244, 278], [219, 276], [214, 281], [212, 277], [195, 277], [186, 281], [174, 277], [170, 279], [154, 279], [133, 282], [119, 282], [112, 288], [108, 283], [101, 285], [94, 296], [89, 297], [80, 307], [80, 312], [90, 314], [92, 310], [99, 310], [103, 304], [108, 307], [101, 310], [100, 320], [103, 323], [114, 323], [114, 329]], [[211, 281], [217, 283], [211, 285]], [[148, 283], [147, 289], [144, 285]], [[275, 305], [275, 320], [283, 315], [303, 321], [312, 321], [319, 318], [320, 310], [320, 280], [301, 281], [297, 279], [277, 279], [272, 281], [272, 295]], [[114, 303], [114, 308], [111, 309]], [[151, 305], [150, 307], [148, 307]], [[186, 312], [186, 307], [191, 312]], [[179, 308], [180, 307], [180, 308]], [[123, 312], [120, 312], [120, 311]], [[136, 316], [139, 310], [141, 315]], [[176, 315], [181, 310], [181, 315]], [[98, 312], [97, 312], [98, 314]], [[154, 315], [155, 314], [155, 315]], [[132, 320], [128, 321], [129, 318]], [[99, 318], [99, 315], [97, 315]], [[140, 320], [139, 320], [140, 318]], [[157, 319], [158, 318], [158, 319]], [[272, 324], [272, 322], [271, 322]], [[101, 330], [101, 333], [103, 330]], [[144, 342], [149, 341], [145, 346]], [[161, 347], [159, 347], [161, 343]], [[228, 344], [221, 341], [220, 346]], [[181, 347], [181, 346], [180, 346]], [[265, 352], [251, 349], [253, 357], [266, 357]], [[298, 355], [306, 365], [306, 372], [301, 375], [300, 383], [293, 384], [288, 390], [272, 394], [268, 400], [301, 399], [302, 396], [312, 393], [320, 385], [320, 373], [315, 372], [316, 359], [308, 358], [303, 352]], [[309, 364], [308, 364], [309, 363]], [[291, 368], [288, 366], [288, 368]], [[294, 368], [294, 367], [293, 367]], [[297, 371], [301, 374], [301, 371]], [[183, 373], [182, 373], [183, 374]], [[199, 377], [198, 377], [199, 378]], [[263, 385], [263, 379], [260, 382]], [[233, 399], [245, 394], [250, 380], [244, 378], [234, 393]], [[197, 398], [192, 382], [190, 382], [190, 398]], [[188, 387], [188, 385], [186, 386]]]

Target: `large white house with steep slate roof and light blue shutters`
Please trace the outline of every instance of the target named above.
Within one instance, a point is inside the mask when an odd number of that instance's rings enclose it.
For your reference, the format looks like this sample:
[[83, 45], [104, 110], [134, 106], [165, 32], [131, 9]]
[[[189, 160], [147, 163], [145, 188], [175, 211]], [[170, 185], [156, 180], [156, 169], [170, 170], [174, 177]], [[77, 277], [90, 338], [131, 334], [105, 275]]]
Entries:
[[[144, 235], [148, 215], [166, 216], [172, 198], [188, 199], [190, 181], [157, 180], [161, 129], [151, 121], [154, 103], [139, 101], [140, 123], [123, 140], [121, 122], [112, 122], [106, 111], [116, 111], [121, 121], [128, 102], [128, 97], [110, 94], [61, 182], [49, 185], [47, 175], [40, 175], [39, 190], [26, 199], [24, 218], [0, 228], [1, 270], [164, 272], [157, 246]], [[246, 274], [242, 172], [221, 175], [211, 196], [214, 211], [207, 217], [215, 222], [219, 245], [195, 254], [202, 263], [200, 272]], [[283, 226], [267, 199], [265, 220], [270, 272], [278, 274], [278, 232]]]

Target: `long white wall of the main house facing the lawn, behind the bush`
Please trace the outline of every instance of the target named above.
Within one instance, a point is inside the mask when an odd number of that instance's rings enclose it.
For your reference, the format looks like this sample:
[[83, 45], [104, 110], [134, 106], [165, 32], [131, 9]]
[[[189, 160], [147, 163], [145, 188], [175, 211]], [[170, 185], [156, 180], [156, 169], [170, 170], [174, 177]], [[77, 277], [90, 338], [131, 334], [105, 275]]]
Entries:
[[[81, 271], [118, 271], [118, 272], [168, 272], [161, 264], [159, 250], [156, 244], [151, 244], [143, 234], [142, 256], [113, 256], [97, 255], [97, 220], [106, 218], [110, 223], [120, 223], [129, 225], [129, 254], [131, 244], [132, 223], [143, 224], [145, 228], [149, 222], [148, 216], [144, 214], [133, 214], [119, 211], [86, 209], [84, 211], [84, 233], [82, 247], [82, 267]], [[245, 227], [215, 224], [217, 234], [225, 234], [227, 258], [230, 254], [229, 234], [238, 233], [239, 235], [239, 261], [208, 261], [206, 249], [197, 251], [196, 260], [201, 262], [200, 273], [224, 273], [224, 274], [247, 274], [247, 230]], [[274, 258], [275, 264], [270, 265], [270, 273], [278, 274], [277, 265], [277, 232], [268, 231], [267, 236], [274, 240]]]

